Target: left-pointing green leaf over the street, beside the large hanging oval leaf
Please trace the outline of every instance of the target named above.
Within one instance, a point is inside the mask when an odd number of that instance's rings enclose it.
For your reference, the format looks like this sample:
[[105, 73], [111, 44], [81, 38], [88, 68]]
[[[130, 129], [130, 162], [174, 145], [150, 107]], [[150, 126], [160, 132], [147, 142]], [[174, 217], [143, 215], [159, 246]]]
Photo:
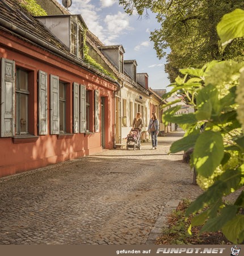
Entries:
[[179, 151], [188, 150], [195, 145], [196, 139], [199, 137], [199, 135], [200, 134], [190, 134], [187, 137], [183, 137], [182, 139], [173, 142], [170, 147], [170, 152], [176, 153]]

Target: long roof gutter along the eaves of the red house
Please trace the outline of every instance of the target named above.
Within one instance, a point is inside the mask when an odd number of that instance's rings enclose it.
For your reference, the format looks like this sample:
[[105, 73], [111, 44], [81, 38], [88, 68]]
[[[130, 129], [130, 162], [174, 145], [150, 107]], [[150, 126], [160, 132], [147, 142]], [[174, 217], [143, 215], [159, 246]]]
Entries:
[[86, 64], [84, 61], [78, 59], [77, 57], [74, 57], [68, 52], [63, 51], [62, 49], [58, 49], [57, 47], [53, 46], [53, 44], [50, 44], [48, 42], [45, 42], [44, 40], [40, 38], [36, 38], [36, 36], [32, 35], [30, 32], [23, 30], [23, 28], [20, 28], [13, 24], [12, 22], [9, 22], [8, 20], [5, 20], [0, 17], [0, 24], [11, 30], [16, 32], [16, 34], [23, 36], [24, 38], [27, 38], [28, 40], [31, 40], [31, 42], [36, 43], [37, 45], [44, 47], [45, 49], [48, 49], [49, 51], [56, 53], [58, 56], [64, 57], [66, 60], [69, 60], [75, 64], [80, 65], [82, 68], [86, 69], [87, 71], [91, 71], [92, 73], [95, 73], [96, 75], [103, 77], [104, 79], [113, 82], [117, 86], [117, 90], [121, 88], [121, 85], [116, 80], [112, 79], [112, 77], [109, 77], [107, 75], [104, 75], [102, 72], [98, 71], [94, 67], [90, 66], [89, 64]]

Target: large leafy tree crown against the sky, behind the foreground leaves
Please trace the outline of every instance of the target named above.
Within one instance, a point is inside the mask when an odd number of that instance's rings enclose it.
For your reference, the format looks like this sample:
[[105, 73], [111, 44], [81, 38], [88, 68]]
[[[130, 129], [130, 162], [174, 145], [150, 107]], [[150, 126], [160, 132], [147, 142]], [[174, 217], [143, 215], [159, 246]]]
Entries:
[[[236, 8], [244, 9], [239, 0], [120, 0], [125, 11], [132, 14], [136, 9], [139, 15], [150, 9], [157, 14], [160, 28], [151, 33], [157, 56], [167, 55], [165, 71], [171, 82], [179, 73], [179, 68], [201, 68], [211, 60], [244, 60], [244, 40], [234, 39], [222, 51], [216, 25], [221, 17]], [[237, 47], [238, 46], [238, 47]], [[235, 49], [235, 50], [233, 50]]]

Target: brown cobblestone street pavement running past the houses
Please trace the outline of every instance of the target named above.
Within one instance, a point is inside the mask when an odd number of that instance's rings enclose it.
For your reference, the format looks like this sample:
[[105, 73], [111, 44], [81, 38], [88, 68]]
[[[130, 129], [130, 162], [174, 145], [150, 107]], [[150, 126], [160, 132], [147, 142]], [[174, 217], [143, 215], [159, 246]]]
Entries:
[[114, 149], [0, 179], [0, 244], [153, 243], [163, 213], [200, 188], [183, 154], [182, 131], [142, 150]]

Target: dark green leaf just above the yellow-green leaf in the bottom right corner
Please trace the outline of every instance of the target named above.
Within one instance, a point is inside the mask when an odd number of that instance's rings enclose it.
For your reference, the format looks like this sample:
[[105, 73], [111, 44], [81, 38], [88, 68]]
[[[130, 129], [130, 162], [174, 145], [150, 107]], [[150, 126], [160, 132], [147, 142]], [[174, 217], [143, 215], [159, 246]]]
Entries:
[[220, 216], [209, 219], [206, 224], [201, 228], [200, 233], [203, 232], [216, 232], [221, 230], [222, 226], [230, 219], [234, 218], [237, 214], [238, 207], [236, 205], [227, 205], [221, 210]]

